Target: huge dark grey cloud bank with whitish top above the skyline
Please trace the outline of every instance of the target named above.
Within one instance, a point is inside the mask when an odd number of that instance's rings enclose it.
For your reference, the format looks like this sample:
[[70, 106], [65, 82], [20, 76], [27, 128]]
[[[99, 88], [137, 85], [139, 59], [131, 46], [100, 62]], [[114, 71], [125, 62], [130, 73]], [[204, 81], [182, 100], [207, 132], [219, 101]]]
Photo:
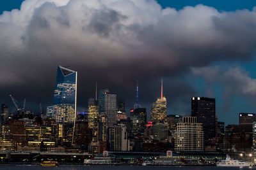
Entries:
[[166, 85], [175, 89], [170, 97], [186, 103], [196, 94], [182, 81], [189, 67], [255, 55], [255, 18], [255, 10], [177, 11], [153, 0], [26, 0], [0, 16], [0, 99], [12, 93], [50, 104], [56, 66], [63, 65], [79, 71], [81, 108], [95, 81], [130, 103], [129, 90], [143, 81], [142, 99], [152, 103], [153, 82], [162, 76], [177, 81]]

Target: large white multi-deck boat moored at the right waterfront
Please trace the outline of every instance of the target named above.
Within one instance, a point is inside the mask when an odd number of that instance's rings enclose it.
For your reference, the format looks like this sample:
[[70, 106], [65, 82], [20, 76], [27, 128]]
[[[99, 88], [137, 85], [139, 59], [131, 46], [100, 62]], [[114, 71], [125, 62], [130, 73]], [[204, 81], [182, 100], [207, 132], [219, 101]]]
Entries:
[[216, 163], [216, 166], [229, 166], [229, 167], [250, 167], [253, 166], [252, 162], [244, 162], [241, 160], [234, 160], [227, 155], [225, 160], [221, 160]]

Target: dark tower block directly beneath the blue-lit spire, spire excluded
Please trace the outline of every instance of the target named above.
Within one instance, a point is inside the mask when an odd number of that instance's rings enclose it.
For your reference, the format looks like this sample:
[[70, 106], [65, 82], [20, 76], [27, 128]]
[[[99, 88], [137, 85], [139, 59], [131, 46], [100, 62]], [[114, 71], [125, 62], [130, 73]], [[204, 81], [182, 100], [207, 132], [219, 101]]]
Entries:
[[147, 110], [146, 108], [136, 108], [131, 112], [132, 133], [143, 134], [147, 124]]

